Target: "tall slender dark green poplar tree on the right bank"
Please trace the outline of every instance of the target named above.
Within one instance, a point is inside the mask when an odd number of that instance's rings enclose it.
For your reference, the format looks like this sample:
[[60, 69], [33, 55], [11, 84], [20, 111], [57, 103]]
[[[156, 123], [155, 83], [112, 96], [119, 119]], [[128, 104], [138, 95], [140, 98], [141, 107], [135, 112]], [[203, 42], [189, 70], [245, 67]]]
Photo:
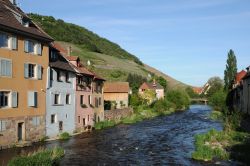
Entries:
[[225, 90], [232, 89], [237, 74], [237, 60], [233, 50], [228, 52], [226, 69], [224, 71]]

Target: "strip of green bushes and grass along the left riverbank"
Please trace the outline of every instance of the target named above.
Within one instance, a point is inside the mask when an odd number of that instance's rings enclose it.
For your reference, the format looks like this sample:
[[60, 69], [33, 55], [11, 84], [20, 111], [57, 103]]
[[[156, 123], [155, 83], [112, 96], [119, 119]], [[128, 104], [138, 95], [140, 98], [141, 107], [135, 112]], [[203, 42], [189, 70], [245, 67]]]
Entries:
[[145, 119], [157, 116], [170, 115], [176, 111], [184, 111], [189, 107], [189, 96], [185, 91], [169, 91], [164, 99], [154, 100], [152, 103], [145, 101], [145, 98], [138, 94], [129, 97], [130, 106], [133, 107], [133, 114], [120, 120], [106, 120], [95, 124], [95, 129], [104, 129], [117, 124], [133, 124]]

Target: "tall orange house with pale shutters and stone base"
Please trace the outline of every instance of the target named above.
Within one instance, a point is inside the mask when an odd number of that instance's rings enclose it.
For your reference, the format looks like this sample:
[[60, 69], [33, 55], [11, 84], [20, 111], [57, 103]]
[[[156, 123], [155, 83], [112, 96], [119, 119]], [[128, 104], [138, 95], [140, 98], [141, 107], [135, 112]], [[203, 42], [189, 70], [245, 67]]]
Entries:
[[45, 135], [52, 41], [14, 0], [0, 0], [0, 148]]

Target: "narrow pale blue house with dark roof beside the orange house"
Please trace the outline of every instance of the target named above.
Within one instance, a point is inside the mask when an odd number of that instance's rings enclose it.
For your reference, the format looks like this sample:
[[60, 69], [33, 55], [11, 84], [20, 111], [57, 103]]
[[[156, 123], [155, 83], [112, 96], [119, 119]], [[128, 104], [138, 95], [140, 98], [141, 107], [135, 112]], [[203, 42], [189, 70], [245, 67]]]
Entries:
[[76, 72], [55, 47], [50, 47], [46, 91], [46, 136], [75, 130]]

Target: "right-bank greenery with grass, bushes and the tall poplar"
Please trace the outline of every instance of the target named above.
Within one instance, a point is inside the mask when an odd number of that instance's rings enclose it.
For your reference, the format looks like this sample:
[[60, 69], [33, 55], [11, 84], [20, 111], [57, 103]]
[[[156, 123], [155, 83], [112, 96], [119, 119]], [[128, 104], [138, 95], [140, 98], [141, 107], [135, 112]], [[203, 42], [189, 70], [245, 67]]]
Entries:
[[250, 164], [250, 134], [242, 128], [242, 123], [246, 119], [249, 120], [249, 117], [232, 107], [233, 101], [229, 96], [236, 73], [236, 57], [230, 50], [224, 83], [218, 77], [210, 79], [211, 91], [206, 96], [213, 108], [210, 117], [213, 120], [223, 120], [223, 130], [212, 129], [207, 133], [196, 135], [193, 159], [203, 161], [232, 159]]

